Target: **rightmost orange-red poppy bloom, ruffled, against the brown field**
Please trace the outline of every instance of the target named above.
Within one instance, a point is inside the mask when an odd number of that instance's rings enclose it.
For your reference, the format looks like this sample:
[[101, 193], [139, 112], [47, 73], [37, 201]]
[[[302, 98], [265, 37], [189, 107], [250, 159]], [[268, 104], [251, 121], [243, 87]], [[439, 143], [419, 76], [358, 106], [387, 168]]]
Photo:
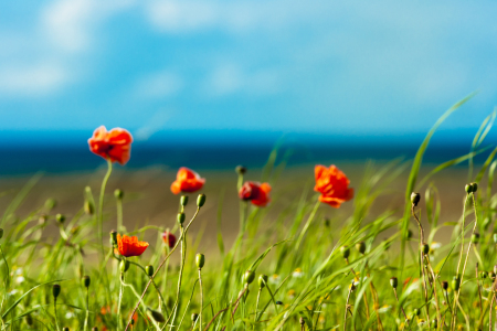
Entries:
[[349, 189], [349, 179], [337, 167], [316, 166], [316, 186], [314, 191], [321, 193], [319, 201], [332, 207], [340, 207], [346, 201], [353, 197], [353, 189]]

